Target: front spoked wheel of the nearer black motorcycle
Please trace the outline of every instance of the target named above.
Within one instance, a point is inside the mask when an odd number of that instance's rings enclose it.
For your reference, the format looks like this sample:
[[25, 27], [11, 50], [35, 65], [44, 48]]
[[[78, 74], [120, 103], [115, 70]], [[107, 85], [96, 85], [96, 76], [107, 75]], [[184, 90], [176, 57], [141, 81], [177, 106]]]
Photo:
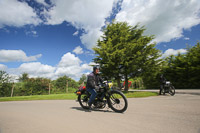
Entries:
[[112, 91], [108, 99], [109, 107], [118, 113], [123, 113], [128, 107], [128, 101], [120, 91]]

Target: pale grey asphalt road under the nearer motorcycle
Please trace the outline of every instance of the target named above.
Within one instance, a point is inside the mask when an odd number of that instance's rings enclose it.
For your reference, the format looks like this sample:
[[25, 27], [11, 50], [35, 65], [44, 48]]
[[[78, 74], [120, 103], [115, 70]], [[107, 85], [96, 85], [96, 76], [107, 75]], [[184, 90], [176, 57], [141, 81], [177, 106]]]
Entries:
[[128, 110], [83, 110], [73, 100], [0, 102], [0, 133], [200, 133], [200, 95], [128, 99]]

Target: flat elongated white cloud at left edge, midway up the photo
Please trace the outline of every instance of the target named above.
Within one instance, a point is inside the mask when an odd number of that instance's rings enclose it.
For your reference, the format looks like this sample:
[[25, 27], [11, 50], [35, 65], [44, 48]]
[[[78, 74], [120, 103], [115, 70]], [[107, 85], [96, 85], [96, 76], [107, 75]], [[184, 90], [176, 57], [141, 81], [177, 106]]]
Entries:
[[27, 56], [22, 50], [0, 50], [0, 62], [13, 62], [13, 61], [36, 61], [42, 55]]

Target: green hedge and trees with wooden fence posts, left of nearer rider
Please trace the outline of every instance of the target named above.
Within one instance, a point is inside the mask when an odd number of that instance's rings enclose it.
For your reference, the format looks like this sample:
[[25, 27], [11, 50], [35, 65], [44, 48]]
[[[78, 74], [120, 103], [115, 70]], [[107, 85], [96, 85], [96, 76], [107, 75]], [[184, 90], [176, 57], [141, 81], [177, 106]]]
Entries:
[[23, 73], [17, 79], [18, 82], [14, 83], [7, 72], [0, 71], [0, 97], [72, 93], [85, 79], [86, 75], [82, 75], [78, 82], [66, 75], [56, 80], [30, 78], [27, 73]]

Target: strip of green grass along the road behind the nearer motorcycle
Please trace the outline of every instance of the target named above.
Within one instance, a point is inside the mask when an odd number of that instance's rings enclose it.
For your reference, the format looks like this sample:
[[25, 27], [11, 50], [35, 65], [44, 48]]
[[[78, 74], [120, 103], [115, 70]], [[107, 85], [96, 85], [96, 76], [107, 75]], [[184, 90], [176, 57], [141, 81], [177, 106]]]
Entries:
[[[127, 98], [157, 96], [155, 92], [128, 92], [124, 93]], [[33, 95], [33, 96], [15, 96], [15, 97], [0, 97], [0, 102], [3, 101], [30, 101], [30, 100], [75, 100], [77, 95], [74, 93], [68, 94], [51, 94], [51, 95]]]

